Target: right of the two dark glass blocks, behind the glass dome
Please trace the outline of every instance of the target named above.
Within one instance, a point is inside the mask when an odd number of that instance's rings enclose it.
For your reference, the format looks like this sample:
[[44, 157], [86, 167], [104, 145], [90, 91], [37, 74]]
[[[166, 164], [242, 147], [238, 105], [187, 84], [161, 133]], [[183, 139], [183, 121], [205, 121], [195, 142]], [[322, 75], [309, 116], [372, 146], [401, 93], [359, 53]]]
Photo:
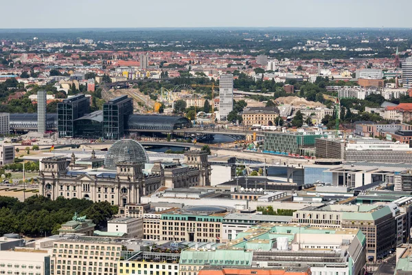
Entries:
[[133, 100], [128, 96], [118, 96], [103, 104], [103, 136], [118, 140], [124, 136], [128, 115], [133, 114]]

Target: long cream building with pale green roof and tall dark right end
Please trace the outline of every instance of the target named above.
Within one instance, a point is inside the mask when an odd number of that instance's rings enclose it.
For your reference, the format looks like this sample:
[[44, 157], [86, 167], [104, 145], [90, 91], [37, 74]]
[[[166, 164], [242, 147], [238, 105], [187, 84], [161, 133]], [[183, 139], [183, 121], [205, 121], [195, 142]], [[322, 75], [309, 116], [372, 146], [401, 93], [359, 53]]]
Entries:
[[376, 256], [396, 246], [396, 223], [389, 206], [329, 205], [297, 210], [293, 223], [329, 228], [358, 228], [366, 236], [367, 256]]

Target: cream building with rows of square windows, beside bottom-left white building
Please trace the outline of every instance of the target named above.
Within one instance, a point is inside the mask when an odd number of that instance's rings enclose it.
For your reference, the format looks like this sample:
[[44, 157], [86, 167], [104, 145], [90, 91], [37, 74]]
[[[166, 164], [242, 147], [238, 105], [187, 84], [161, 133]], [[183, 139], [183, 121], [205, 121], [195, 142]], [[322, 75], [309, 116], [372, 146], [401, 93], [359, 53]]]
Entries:
[[53, 246], [50, 275], [115, 275], [122, 245], [122, 241], [91, 236], [59, 239]]

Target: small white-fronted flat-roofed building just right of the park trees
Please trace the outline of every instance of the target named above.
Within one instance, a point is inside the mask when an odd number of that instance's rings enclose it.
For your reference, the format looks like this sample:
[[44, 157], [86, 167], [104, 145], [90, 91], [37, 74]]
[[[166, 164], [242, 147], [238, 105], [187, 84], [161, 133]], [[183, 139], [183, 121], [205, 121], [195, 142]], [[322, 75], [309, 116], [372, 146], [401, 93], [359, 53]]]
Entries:
[[119, 217], [107, 222], [107, 232], [126, 233], [128, 239], [143, 238], [143, 218]]

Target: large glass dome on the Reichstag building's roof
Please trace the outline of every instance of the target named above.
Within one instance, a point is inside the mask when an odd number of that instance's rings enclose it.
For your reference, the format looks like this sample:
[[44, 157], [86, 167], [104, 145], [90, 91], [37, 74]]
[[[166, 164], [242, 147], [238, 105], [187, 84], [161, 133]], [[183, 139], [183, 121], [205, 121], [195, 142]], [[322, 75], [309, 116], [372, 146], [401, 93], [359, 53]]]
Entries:
[[118, 140], [107, 151], [104, 157], [104, 168], [115, 170], [119, 162], [137, 162], [146, 164], [149, 157], [139, 142], [135, 140]]

